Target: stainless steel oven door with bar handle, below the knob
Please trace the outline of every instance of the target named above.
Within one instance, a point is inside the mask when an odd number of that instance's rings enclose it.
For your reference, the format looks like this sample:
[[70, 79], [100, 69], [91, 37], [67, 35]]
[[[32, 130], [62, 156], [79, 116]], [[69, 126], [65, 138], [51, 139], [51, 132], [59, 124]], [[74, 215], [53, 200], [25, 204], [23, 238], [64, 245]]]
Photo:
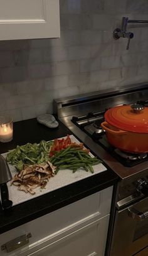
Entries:
[[148, 198], [145, 198], [117, 211], [110, 256], [132, 256], [147, 246]]

